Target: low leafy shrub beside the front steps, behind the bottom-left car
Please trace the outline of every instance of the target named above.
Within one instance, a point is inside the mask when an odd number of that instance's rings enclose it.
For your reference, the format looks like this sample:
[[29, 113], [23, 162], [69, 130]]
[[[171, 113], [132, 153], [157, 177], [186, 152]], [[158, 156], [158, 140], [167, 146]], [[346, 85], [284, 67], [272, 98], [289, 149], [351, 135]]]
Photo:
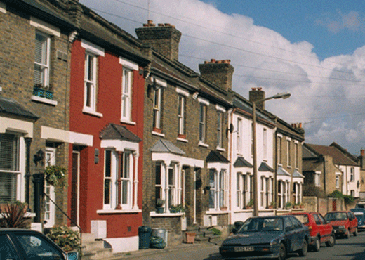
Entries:
[[65, 252], [81, 248], [81, 238], [77, 231], [67, 226], [54, 226], [47, 234]]

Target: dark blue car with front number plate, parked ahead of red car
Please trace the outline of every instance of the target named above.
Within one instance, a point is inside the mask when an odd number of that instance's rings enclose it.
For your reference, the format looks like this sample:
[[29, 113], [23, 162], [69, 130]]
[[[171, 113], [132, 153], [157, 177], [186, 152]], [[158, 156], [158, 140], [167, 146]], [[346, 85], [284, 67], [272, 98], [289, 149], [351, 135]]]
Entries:
[[223, 259], [286, 259], [288, 252], [305, 256], [309, 232], [294, 216], [260, 216], [247, 219], [236, 234], [223, 241]]

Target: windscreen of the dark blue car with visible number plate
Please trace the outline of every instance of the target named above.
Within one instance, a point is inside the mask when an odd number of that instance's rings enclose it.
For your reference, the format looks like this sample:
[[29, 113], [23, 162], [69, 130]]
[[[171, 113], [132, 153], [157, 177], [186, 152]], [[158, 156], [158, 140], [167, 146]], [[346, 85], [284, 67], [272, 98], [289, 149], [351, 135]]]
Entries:
[[238, 233], [281, 230], [283, 230], [283, 220], [281, 218], [253, 218], [248, 219], [241, 226]]

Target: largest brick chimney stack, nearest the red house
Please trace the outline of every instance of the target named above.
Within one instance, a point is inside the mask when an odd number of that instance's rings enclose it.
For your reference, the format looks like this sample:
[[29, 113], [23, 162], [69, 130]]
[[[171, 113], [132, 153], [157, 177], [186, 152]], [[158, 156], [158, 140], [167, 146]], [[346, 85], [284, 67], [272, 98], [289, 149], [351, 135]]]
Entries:
[[170, 60], [179, 58], [179, 42], [181, 32], [169, 23], [159, 23], [156, 26], [152, 20], [148, 20], [143, 27], [135, 29], [138, 39], [150, 44], [155, 51]]

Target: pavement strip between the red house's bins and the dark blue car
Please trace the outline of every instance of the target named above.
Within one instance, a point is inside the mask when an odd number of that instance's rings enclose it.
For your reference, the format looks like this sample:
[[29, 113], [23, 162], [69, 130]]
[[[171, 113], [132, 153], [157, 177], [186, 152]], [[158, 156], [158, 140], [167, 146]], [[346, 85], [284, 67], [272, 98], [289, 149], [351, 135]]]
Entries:
[[174, 253], [174, 252], [188, 252], [191, 249], [199, 249], [201, 247], [211, 247], [215, 245], [220, 245], [223, 242], [223, 238], [214, 240], [213, 242], [194, 242], [193, 244], [181, 243], [175, 246], [168, 246], [164, 249], [140, 249], [138, 251], [123, 252], [113, 255], [113, 259], [142, 259], [148, 256], [164, 254], [164, 253]]

